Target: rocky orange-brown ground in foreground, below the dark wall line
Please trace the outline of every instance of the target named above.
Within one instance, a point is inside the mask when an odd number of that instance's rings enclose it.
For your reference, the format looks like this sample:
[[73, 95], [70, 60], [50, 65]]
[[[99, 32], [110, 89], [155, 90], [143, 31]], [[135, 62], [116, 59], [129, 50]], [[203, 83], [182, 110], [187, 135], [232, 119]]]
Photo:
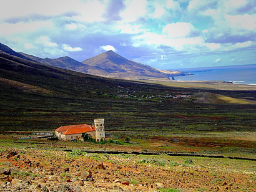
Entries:
[[255, 191], [255, 173], [173, 158], [2, 146], [0, 191]]

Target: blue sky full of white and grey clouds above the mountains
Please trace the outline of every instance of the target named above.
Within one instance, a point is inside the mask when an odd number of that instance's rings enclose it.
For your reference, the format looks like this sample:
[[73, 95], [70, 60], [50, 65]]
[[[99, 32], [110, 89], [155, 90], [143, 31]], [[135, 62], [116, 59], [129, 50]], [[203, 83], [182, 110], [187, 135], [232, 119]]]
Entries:
[[78, 61], [113, 50], [158, 69], [256, 64], [256, 1], [1, 1], [0, 42]]

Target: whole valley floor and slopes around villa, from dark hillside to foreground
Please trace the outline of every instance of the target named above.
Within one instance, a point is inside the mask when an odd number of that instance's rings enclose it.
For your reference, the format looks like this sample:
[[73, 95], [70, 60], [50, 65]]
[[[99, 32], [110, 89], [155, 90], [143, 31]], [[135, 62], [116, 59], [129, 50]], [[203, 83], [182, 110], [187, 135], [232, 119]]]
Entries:
[[[255, 91], [110, 79], [1, 51], [0, 190], [254, 191]], [[94, 118], [115, 142], [20, 139]]]

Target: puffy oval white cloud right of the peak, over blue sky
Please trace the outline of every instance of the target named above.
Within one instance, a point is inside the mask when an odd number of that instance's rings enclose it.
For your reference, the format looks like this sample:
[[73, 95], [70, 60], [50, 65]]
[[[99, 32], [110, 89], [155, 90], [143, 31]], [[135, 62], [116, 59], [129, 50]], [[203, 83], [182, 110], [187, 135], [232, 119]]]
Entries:
[[169, 37], [187, 37], [195, 28], [189, 22], [176, 22], [167, 24], [162, 31]]

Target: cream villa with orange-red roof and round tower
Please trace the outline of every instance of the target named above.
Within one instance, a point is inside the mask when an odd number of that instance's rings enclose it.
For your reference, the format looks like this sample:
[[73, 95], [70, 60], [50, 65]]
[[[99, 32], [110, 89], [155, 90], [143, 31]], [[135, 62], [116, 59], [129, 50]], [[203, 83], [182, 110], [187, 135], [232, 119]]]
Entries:
[[97, 142], [105, 140], [104, 118], [94, 119], [92, 125], [67, 125], [55, 130], [55, 135], [59, 140], [83, 140], [82, 133], [90, 135]]

